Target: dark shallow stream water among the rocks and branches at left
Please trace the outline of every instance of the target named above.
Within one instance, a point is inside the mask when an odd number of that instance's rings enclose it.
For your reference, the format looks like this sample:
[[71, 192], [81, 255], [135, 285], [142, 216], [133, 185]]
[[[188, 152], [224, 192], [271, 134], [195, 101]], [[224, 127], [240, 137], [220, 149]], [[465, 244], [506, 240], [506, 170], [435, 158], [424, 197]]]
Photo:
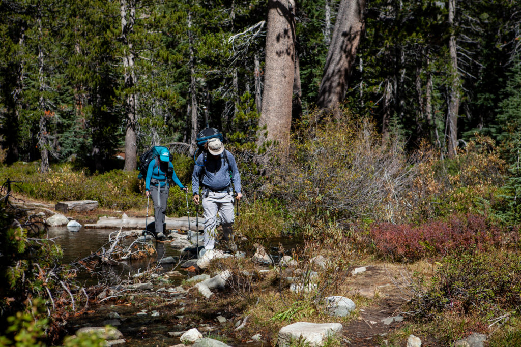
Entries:
[[[108, 242], [110, 233], [115, 232], [114, 229], [85, 229], [81, 228], [78, 232], [71, 232], [67, 227], [52, 227], [48, 229], [48, 235], [51, 238], [56, 238], [56, 242], [63, 249], [63, 263], [70, 264], [79, 259], [84, 258], [91, 252], [95, 252]], [[129, 239], [128, 242], [131, 242]], [[295, 241], [291, 239], [272, 239], [269, 241], [271, 253], [276, 253], [276, 247], [279, 242], [282, 243], [284, 248], [290, 250], [295, 246]], [[102, 270], [110, 272], [118, 277], [126, 278], [128, 275], [133, 275], [138, 272], [146, 271], [156, 265], [157, 260], [166, 256], [180, 256], [180, 252], [170, 247], [168, 243], [155, 243], [157, 254], [152, 257], [145, 258], [143, 260], [128, 261], [126, 263], [109, 266], [103, 265]], [[274, 254], [275, 255], [275, 254]], [[170, 271], [174, 265], [165, 264], [162, 265], [162, 272]], [[189, 273], [181, 268], [176, 268], [183, 275], [190, 277], [195, 273]], [[97, 283], [97, 279], [91, 278], [87, 273], [79, 273], [78, 279], [85, 286], [93, 285]], [[180, 284], [174, 283], [173, 286]], [[151, 299], [152, 300], [152, 299]], [[180, 324], [182, 319], [179, 316], [167, 316], [166, 312], [160, 312], [163, 314], [159, 317], [152, 317], [147, 315], [145, 317], [138, 317], [137, 313], [140, 312], [142, 307], [135, 307], [133, 305], [98, 305], [91, 307], [91, 312], [86, 315], [82, 315], [73, 318], [67, 325], [69, 334], [74, 333], [81, 326], [105, 326], [107, 324], [115, 325], [118, 330], [123, 333], [123, 338], [126, 339], [127, 346], [139, 345], [142, 347], [146, 346], [170, 346], [180, 343], [179, 337], [171, 337], [168, 332], [183, 331], [193, 328], [194, 326], [187, 326]], [[160, 310], [158, 310], [160, 311]], [[164, 309], [164, 311], [166, 311]], [[114, 321], [110, 321], [108, 314], [116, 312], [120, 318], [116, 324]], [[150, 314], [150, 312], [148, 313]], [[190, 314], [189, 305], [185, 306], [183, 315]], [[226, 312], [222, 312], [226, 316]], [[179, 318], [179, 319], [178, 319]], [[178, 319], [178, 320], [177, 320]], [[227, 331], [223, 329], [217, 322], [202, 322], [202, 324], [209, 324], [212, 327], [216, 327], [217, 330], [212, 331], [211, 335], [215, 336], [226, 336]], [[120, 324], [120, 325], [119, 325]], [[222, 330], [221, 330], [222, 329]], [[208, 332], [203, 332], [203, 335], [208, 336]], [[231, 346], [249, 346], [257, 347], [262, 346], [261, 342], [244, 343], [239, 341], [226, 341]]]

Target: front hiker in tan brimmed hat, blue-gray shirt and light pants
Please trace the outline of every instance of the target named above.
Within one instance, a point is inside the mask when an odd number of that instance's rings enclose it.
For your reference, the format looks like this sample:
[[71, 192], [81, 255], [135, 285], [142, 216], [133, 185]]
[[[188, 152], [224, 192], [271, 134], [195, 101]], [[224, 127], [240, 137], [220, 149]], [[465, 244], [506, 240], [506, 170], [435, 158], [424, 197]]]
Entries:
[[[233, 184], [233, 188], [232, 188]], [[203, 204], [204, 248], [214, 249], [217, 236], [217, 213], [222, 225], [222, 239], [230, 241], [234, 222], [233, 202], [240, 200], [241, 177], [233, 155], [217, 138], [209, 139], [197, 157], [192, 174], [192, 193], [196, 204]], [[233, 196], [233, 191], [237, 196]]]

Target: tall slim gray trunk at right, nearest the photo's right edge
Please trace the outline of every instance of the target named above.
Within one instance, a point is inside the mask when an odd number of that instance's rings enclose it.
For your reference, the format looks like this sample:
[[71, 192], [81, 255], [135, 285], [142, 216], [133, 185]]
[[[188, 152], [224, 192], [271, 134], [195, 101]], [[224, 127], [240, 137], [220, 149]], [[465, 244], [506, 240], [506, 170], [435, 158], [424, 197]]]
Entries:
[[447, 113], [448, 129], [446, 131], [448, 136], [448, 155], [450, 158], [456, 156], [457, 151], [457, 117], [460, 111], [460, 73], [458, 72], [457, 64], [457, 46], [455, 35], [454, 16], [456, 12], [456, 0], [449, 0], [449, 26], [451, 35], [449, 38], [449, 54], [451, 57], [451, 85], [450, 85], [450, 100], [449, 109]]

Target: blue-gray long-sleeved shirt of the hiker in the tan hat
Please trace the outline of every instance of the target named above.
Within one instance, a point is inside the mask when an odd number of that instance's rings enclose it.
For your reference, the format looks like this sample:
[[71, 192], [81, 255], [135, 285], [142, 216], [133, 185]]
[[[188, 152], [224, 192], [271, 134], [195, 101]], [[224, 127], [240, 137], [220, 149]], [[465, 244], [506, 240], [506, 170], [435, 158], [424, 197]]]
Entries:
[[[228, 163], [225, 160], [225, 153], [230, 166], [228, 166]], [[202, 182], [199, 182], [199, 180], [201, 171], [203, 170], [203, 155], [199, 155], [195, 162], [196, 164], [194, 165], [194, 172], [192, 174], [193, 194], [199, 194], [200, 185], [203, 189], [210, 188], [216, 191], [226, 191], [226, 188], [230, 187], [231, 181], [233, 181], [234, 190], [238, 193], [241, 192], [241, 176], [239, 175], [239, 170], [237, 169], [237, 163], [235, 162], [233, 155], [226, 149], [220, 154], [219, 158], [215, 158], [210, 154], [206, 156]], [[231, 180], [229, 170], [232, 172]]]

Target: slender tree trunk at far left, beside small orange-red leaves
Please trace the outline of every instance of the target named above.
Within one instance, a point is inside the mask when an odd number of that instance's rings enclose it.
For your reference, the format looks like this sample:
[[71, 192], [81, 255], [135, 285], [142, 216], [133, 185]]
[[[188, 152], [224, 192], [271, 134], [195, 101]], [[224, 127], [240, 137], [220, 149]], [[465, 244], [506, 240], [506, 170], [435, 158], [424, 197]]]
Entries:
[[43, 79], [43, 30], [42, 30], [42, 14], [40, 8], [38, 9], [38, 92], [40, 94], [38, 98], [38, 111], [40, 113], [39, 132], [38, 132], [38, 147], [40, 149], [40, 172], [45, 173], [49, 171], [49, 140], [47, 132], [47, 116], [50, 116], [50, 112], [46, 112], [44, 93], [44, 79]]

